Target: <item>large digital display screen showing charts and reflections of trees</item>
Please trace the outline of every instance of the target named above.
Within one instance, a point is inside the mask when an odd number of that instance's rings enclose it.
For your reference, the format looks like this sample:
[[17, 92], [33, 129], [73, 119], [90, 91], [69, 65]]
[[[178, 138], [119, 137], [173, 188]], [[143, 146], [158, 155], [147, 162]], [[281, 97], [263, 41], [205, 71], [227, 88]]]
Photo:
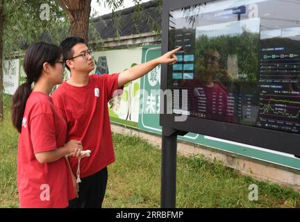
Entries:
[[170, 11], [169, 50], [183, 46], [168, 66], [173, 113], [299, 134], [299, 13], [297, 0]]

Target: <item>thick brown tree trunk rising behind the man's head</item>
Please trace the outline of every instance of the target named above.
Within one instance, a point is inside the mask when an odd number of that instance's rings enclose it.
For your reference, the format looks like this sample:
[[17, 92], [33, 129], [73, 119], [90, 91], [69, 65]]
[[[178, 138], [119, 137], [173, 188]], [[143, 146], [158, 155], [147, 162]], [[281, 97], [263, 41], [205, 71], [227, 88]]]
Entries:
[[92, 0], [59, 0], [71, 24], [71, 35], [82, 37], [88, 43], [88, 28]]

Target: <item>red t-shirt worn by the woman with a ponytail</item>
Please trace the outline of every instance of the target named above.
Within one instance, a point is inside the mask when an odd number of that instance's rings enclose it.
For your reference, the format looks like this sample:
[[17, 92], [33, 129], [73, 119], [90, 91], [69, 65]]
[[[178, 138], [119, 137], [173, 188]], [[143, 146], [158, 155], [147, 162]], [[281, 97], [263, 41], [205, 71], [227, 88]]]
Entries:
[[67, 124], [49, 95], [31, 92], [24, 111], [17, 153], [19, 207], [67, 207], [75, 198], [72, 175], [65, 157], [41, 164], [35, 153], [65, 144]]

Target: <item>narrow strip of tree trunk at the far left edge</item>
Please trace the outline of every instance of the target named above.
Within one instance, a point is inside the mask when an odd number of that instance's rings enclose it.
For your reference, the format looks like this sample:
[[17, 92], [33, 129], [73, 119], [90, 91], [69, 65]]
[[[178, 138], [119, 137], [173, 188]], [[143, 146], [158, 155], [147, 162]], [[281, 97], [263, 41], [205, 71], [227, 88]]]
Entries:
[[3, 22], [4, 22], [4, 0], [0, 0], [0, 122], [3, 121]]

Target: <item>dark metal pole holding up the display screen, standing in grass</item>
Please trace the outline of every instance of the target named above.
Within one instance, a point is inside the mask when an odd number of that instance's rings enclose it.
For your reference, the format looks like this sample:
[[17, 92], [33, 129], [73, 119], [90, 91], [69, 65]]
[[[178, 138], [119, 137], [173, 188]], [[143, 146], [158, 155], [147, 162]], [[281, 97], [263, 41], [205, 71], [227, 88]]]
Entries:
[[160, 207], [176, 207], [177, 136], [187, 132], [163, 127]]

